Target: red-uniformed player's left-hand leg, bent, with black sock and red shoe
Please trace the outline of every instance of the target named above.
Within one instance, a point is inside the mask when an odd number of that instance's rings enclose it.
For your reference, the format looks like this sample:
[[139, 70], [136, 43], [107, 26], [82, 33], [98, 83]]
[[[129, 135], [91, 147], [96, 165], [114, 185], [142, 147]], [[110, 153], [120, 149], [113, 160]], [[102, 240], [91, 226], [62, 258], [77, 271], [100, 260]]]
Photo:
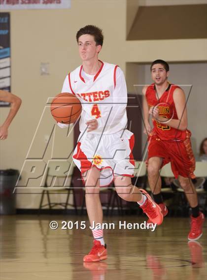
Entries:
[[[161, 177], [160, 177], [160, 168], [162, 165], [163, 159], [158, 156], [153, 156], [148, 159], [147, 165], [147, 174], [148, 174], [148, 182], [150, 189], [153, 194], [154, 201], [160, 206], [163, 216], [165, 217], [168, 214], [168, 209], [166, 205], [163, 203], [163, 197], [161, 194]], [[148, 219], [147, 223], [151, 223], [152, 221]]]

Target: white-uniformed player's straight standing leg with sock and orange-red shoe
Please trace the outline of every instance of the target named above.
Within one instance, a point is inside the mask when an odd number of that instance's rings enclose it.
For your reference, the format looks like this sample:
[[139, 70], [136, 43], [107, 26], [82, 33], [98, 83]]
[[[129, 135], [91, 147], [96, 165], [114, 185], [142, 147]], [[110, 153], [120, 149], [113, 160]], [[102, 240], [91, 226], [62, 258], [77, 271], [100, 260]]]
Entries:
[[83, 174], [85, 181], [86, 209], [92, 227], [94, 246], [83, 261], [94, 262], [107, 258], [106, 245], [104, 243], [103, 229], [98, 224], [103, 223], [103, 210], [99, 196], [100, 192], [100, 171], [93, 167]]

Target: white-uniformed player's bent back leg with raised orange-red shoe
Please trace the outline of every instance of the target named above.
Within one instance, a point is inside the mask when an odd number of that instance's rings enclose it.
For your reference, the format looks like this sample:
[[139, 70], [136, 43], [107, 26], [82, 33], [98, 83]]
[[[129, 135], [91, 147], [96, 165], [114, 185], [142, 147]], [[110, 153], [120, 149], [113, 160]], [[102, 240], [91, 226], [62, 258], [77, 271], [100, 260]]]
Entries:
[[150, 195], [143, 189], [132, 185], [130, 177], [115, 176], [114, 185], [117, 194], [126, 201], [135, 201], [153, 223], [161, 224], [163, 215], [160, 207], [154, 203]]

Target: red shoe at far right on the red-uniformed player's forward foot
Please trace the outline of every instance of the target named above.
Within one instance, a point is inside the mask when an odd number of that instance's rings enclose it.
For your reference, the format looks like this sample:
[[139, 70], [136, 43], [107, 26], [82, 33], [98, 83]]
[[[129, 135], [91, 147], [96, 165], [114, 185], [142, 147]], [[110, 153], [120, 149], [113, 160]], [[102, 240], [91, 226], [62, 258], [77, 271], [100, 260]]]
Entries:
[[191, 218], [191, 229], [188, 234], [188, 240], [198, 240], [203, 234], [202, 227], [205, 221], [205, 216], [202, 212], [200, 212], [199, 217], [193, 218], [191, 216], [190, 218]]

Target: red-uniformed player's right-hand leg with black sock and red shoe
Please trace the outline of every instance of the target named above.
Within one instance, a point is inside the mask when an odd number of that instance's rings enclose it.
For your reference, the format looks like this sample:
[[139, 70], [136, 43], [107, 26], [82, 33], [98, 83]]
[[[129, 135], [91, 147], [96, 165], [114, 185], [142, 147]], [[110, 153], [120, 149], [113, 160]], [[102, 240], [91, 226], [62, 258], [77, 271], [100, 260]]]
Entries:
[[202, 227], [205, 217], [199, 210], [197, 192], [190, 178], [185, 178], [179, 175], [178, 180], [192, 209], [191, 229], [188, 234], [188, 239], [198, 240], [203, 234]]

